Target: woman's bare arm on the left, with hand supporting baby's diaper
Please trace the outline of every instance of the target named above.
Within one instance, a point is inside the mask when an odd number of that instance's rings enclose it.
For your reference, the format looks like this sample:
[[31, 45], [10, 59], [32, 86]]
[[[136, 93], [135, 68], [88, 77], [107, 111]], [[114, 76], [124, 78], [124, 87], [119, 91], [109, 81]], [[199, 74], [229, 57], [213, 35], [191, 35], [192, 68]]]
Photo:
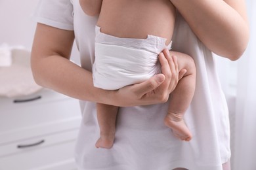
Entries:
[[69, 60], [73, 42], [74, 31], [37, 24], [31, 59], [37, 84], [76, 99], [117, 106], [163, 103], [177, 85], [177, 61], [165, 50], [160, 55], [163, 74], [119, 90], [95, 88], [92, 73]]

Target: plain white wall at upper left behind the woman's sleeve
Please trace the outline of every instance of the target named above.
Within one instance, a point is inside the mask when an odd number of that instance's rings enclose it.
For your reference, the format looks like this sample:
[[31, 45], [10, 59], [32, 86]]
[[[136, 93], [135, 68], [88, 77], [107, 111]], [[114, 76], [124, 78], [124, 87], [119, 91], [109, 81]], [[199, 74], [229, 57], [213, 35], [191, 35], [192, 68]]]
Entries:
[[[38, 1], [0, 0], [0, 44], [31, 50], [36, 26], [31, 16]], [[72, 60], [79, 64], [77, 48], [72, 52]]]

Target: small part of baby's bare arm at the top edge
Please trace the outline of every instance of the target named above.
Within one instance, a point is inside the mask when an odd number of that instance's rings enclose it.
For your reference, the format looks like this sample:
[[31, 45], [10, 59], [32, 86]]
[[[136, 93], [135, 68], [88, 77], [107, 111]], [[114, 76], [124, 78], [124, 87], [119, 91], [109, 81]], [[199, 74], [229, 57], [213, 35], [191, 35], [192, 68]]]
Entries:
[[89, 16], [100, 14], [102, 0], [79, 0], [83, 12]]

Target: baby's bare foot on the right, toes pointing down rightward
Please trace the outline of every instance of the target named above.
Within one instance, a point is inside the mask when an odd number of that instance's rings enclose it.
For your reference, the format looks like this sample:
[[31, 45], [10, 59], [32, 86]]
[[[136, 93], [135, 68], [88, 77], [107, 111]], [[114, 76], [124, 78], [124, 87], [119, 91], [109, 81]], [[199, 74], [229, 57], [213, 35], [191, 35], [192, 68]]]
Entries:
[[173, 129], [174, 135], [182, 141], [190, 141], [192, 139], [192, 134], [186, 126], [183, 118], [174, 118], [173, 115], [169, 113], [165, 117], [165, 125]]

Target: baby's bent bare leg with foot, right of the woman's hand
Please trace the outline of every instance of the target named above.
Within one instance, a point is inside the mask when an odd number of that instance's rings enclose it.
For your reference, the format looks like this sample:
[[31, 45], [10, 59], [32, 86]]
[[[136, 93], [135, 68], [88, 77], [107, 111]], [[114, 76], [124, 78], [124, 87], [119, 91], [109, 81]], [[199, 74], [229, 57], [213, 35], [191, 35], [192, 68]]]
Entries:
[[173, 133], [183, 141], [190, 141], [192, 134], [186, 126], [183, 116], [188, 109], [196, 86], [196, 67], [194, 60], [179, 52], [171, 52], [177, 56], [179, 71], [186, 69], [185, 75], [179, 80], [175, 90], [171, 93], [168, 114], [165, 117], [165, 125], [173, 129]]

